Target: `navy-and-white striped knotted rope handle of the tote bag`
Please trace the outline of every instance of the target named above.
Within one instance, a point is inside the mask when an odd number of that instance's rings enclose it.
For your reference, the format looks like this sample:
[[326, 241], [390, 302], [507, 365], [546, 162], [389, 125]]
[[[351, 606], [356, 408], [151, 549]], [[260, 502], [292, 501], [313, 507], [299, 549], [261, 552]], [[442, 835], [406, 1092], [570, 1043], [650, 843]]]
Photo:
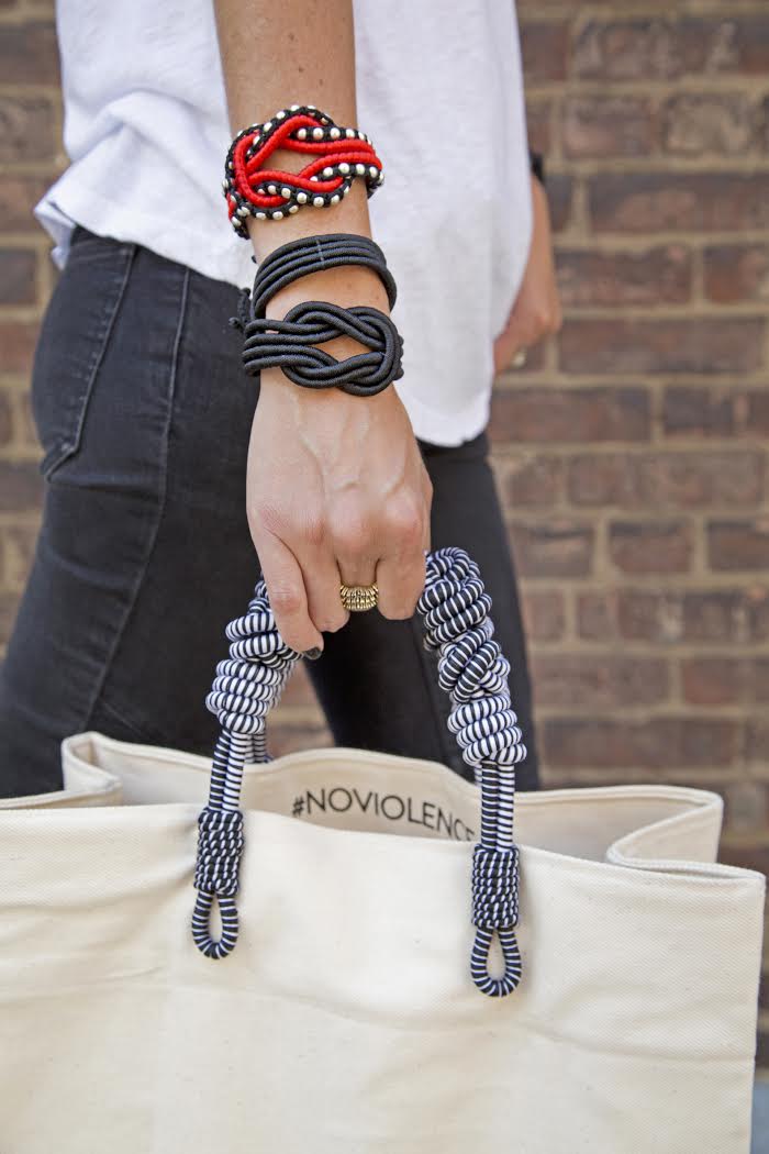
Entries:
[[[490, 997], [504, 997], [521, 977], [515, 939], [518, 923], [518, 848], [513, 841], [515, 765], [526, 757], [512, 710], [510, 662], [493, 638], [491, 598], [478, 568], [463, 549], [429, 554], [419, 601], [424, 644], [438, 652], [440, 687], [451, 699], [448, 728], [473, 766], [481, 787], [481, 839], [473, 853], [473, 923], [476, 928], [470, 973]], [[265, 719], [278, 702], [300, 654], [280, 637], [261, 580], [243, 617], [227, 627], [229, 659], [219, 662], [206, 698], [218, 714], [221, 733], [211, 771], [209, 802], [198, 819], [195, 869], [197, 901], [193, 937], [208, 958], [224, 958], [238, 941], [238, 876], [243, 850], [240, 789], [247, 760], [270, 760]], [[219, 905], [220, 934], [213, 938], [210, 916]], [[495, 934], [504, 973], [489, 973]]]

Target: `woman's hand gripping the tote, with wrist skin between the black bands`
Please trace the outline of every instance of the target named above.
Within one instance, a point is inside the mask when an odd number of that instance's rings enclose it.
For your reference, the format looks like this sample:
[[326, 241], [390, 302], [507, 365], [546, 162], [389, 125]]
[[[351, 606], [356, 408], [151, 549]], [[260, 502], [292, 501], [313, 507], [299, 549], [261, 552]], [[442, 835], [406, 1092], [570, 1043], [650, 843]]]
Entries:
[[[314, 291], [315, 290], [315, 291]], [[347, 268], [304, 277], [273, 298], [270, 315], [297, 300], [387, 310], [378, 279]], [[349, 338], [319, 346], [344, 358]], [[409, 617], [424, 585], [432, 486], [406, 410], [391, 387], [374, 397], [293, 384], [262, 373], [248, 457], [254, 544], [281, 637], [300, 652], [323, 646], [349, 614], [339, 585], [379, 589], [386, 617]]]

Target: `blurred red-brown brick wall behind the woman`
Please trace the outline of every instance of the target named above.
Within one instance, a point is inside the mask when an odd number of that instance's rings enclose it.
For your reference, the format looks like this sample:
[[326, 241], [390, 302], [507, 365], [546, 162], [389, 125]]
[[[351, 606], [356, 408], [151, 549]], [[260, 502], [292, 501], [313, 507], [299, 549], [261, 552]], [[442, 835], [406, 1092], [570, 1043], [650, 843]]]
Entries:
[[[715, 787], [725, 857], [767, 870], [769, 10], [519, 8], [566, 323], [499, 381], [492, 432], [545, 782]], [[63, 163], [47, 3], [0, 0], [0, 77], [5, 636], [40, 497], [27, 388], [52, 271], [29, 209]], [[300, 677], [274, 736], [327, 741]]]

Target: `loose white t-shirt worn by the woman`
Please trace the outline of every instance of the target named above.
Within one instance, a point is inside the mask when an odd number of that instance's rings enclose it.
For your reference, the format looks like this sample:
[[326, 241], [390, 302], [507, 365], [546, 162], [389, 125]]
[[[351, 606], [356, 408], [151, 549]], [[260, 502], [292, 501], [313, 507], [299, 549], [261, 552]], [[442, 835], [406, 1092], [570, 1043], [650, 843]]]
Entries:
[[[512, 0], [354, 7], [357, 127], [385, 170], [372, 234], [398, 284], [405, 343], [397, 388], [417, 436], [459, 444], [485, 427], [493, 338], [530, 241], [515, 10]], [[56, 263], [75, 222], [248, 285], [251, 247], [221, 195], [232, 133], [212, 0], [59, 0], [58, 29], [71, 163], [36, 209]]]

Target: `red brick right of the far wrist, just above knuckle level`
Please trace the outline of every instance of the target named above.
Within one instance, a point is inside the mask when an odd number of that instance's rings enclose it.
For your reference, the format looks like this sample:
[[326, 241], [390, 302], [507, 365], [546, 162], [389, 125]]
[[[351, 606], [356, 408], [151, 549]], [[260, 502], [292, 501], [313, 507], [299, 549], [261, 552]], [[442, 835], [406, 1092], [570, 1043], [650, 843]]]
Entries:
[[559, 249], [557, 270], [566, 307], [681, 305], [692, 294], [692, 256], [680, 245], [646, 253]]

